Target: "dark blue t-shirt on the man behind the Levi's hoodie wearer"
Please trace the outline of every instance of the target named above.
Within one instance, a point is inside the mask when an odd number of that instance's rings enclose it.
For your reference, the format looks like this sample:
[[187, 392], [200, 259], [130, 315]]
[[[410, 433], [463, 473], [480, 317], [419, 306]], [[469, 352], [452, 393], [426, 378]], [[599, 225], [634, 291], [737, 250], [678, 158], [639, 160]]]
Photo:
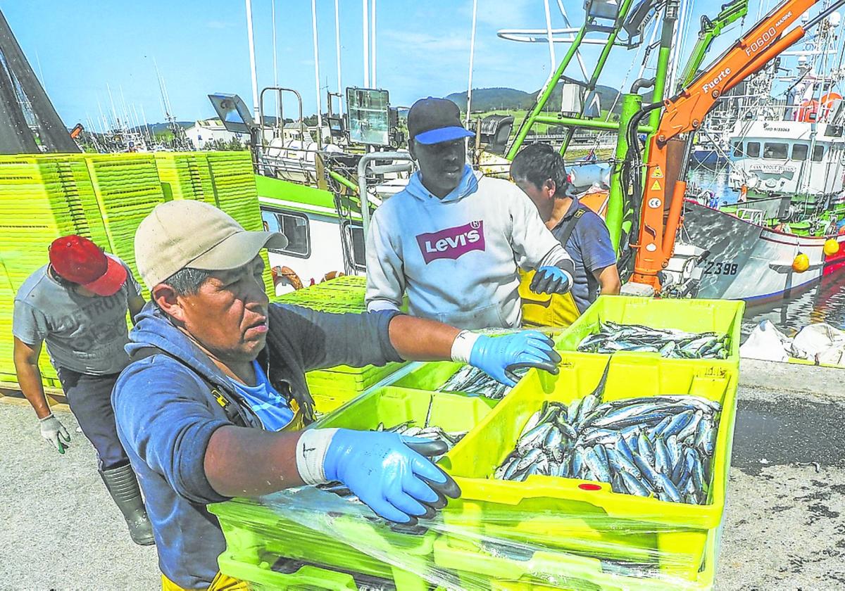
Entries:
[[572, 285], [572, 298], [583, 314], [598, 297], [598, 279], [593, 272], [615, 264], [616, 252], [610, 241], [608, 226], [604, 225], [602, 218], [586, 205], [582, 205], [578, 199], [573, 200], [564, 219], [553, 228], [554, 237], [558, 240], [563, 237], [567, 223], [578, 209], [586, 209], [586, 211], [575, 224], [575, 230], [563, 246], [572, 257], [572, 262], [575, 263], [573, 278], [575, 285]]

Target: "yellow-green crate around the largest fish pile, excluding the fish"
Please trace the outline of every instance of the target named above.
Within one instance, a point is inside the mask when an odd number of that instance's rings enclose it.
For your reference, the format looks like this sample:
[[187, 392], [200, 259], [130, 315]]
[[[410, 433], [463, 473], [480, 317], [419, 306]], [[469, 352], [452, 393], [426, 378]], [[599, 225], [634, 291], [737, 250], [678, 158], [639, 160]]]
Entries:
[[654, 557], [662, 571], [690, 578], [708, 531], [722, 522], [728, 487], [738, 372], [726, 361], [613, 355], [603, 399], [692, 394], [722, 404], [706, 505], [615, 493], [607, 483], [552, 476], [494, 480], [531, 415], [544, 401], [569, 403], [596, 388], [606, 355], [564, 353], [558, 376], [532, 370], [440, 464], [461, 486], [444, 509], [447, 523], [488, 537], [525, 539], [608, 558]]

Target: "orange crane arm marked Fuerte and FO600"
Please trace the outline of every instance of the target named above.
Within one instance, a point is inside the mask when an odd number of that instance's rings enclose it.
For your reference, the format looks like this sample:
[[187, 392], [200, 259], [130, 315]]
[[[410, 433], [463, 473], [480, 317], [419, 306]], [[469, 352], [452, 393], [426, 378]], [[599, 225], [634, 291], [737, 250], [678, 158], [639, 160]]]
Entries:
[[[631, 281], [651, 285], [660, 291], [658, 273], [668, 265], [675, 245], [675, 234], [681, 219], [686, 182], [671, 187], [668, 217], [664, 225], [666, 202], [667, 144], [681, 133], [701, 127], [707, 112], [720, 96], [757, 73], [781, 52], [799, 41], [807, 30], [820, 22], [845, 0], [833, 3], [813, 21], [797, 26], [784, 34], [796, 19], [819, 0], [787, 0], [760, 20], [742, 39], [733, 44], [706, 72], [671, 99], [663, 101], [664, 111], [648, 144], [645, 164], [645, 187], [641, 202], [640, 232], [635, 248], [636, 258]], [[635, 187], [637, 188], [637, 187]]]

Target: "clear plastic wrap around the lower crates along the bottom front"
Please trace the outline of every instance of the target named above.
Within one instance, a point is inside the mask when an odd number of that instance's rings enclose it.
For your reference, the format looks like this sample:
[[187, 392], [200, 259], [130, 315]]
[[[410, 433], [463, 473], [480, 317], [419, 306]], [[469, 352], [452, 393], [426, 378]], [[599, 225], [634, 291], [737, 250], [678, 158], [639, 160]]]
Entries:
[[[327, 588], [697, 589], [710, 588], [717, 558], [718, 528], [692, 537], [601, 512], [487, 512], [480, 529], [450, 519], [452, 507], [413, 527], [391, 524], [313, 487], [265, 496], [259, 510], [238, 503], [215, 512], [225, 530], [237, 520], [252, 535], [235, 544], [227, 535], [221, 570], [254, 588], [296, 587], [318, 569], [324, 583], [347, 577], [348, 586]], [[548, 535], [505, 533], [522, 521]]]

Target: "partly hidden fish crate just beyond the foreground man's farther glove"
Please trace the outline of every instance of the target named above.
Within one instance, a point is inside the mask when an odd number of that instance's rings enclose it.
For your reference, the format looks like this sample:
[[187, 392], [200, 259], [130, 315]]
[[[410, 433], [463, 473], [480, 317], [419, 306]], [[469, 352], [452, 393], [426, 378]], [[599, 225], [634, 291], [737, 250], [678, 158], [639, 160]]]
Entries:
[[[524, 377], [528, 370], [514, 372], [516, 377]], [[434, 361], [419, 364], [411, 371], [398, 377], [392, 385], [401, 388], [416, 388], [432, 392], [450, 392], [480, 396], [491, 400], [500, 400], [512, 388], [497, 382], [487, 373], [470, 365], [455, 361]]]

